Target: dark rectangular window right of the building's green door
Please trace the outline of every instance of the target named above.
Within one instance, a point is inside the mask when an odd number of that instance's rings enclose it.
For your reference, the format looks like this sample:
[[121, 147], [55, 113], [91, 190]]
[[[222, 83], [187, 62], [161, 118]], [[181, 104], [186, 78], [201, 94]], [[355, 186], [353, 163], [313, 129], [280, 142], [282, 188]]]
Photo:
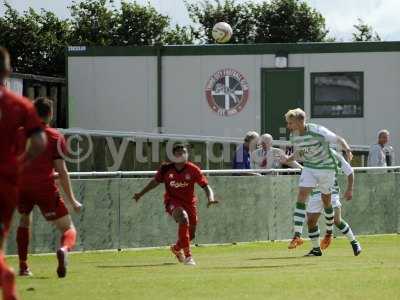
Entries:
[[312, 118], [362, 118], [363, 72], [311, 73]]

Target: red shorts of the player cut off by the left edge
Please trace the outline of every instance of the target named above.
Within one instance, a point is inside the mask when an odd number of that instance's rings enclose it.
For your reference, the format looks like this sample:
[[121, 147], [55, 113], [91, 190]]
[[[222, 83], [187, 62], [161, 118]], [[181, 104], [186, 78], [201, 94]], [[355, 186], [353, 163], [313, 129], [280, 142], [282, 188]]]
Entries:
[[0, 180], [0, 235], [6, 237], [17, 205], [17, 186]]

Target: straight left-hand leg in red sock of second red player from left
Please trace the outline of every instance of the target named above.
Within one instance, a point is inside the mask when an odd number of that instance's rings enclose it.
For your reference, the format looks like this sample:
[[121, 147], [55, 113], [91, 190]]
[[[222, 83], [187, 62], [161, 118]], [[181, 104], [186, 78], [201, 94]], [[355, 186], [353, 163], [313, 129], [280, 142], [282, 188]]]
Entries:
[[[18, 210], [21, 209], [18, 205]], [[31, 210], [30, 210], [31, 211]], [[30, 239], [31, 214], [21, 213], [17, 229], [17, 249], [19, 258], [19, 276], [32, 276], [28, 267], [28, 248]]]

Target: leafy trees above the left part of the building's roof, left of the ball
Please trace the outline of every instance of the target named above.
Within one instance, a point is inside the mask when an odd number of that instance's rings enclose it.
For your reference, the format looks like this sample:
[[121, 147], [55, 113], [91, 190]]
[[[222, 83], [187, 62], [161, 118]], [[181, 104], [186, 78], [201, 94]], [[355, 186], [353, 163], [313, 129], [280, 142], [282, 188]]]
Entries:
[[75, 45], [145, 46], [163, 43], [188, 44], [194, 40], [191, 27], [170, 28], [170, 18], [150, 4], [113, 0], [84, 0], [70, 7]]

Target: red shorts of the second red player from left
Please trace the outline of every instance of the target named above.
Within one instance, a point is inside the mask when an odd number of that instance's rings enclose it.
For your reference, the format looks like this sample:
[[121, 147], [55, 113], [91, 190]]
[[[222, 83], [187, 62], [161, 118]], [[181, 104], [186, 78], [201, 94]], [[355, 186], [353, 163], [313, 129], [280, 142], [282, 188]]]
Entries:
[[21, 189], [18, 196], [18, 212], [30, 214], [37, 205], [47, 221], [68, 215], [68, 209], [57, 189]]

